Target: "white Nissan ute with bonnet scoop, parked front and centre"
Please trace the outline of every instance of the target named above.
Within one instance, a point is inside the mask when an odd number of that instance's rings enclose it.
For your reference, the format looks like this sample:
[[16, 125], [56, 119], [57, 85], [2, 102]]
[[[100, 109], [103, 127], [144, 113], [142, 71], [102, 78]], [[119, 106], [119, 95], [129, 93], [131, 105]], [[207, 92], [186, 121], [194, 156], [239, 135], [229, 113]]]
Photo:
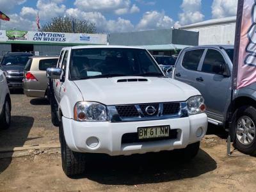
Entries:
[[84, 172], [93, 153], [179, 149], [184, 159], [191, 159], [207, 131], [200, 92], [165, 77], [145, 49], [66, 47], [47, 77], [66, 175]]

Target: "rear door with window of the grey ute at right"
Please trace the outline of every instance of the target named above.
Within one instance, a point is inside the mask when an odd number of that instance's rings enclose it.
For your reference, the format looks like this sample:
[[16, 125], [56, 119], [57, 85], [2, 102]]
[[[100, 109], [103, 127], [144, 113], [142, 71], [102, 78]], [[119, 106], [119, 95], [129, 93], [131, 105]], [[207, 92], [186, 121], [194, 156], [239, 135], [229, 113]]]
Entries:
[[182, 51], [175, 66], [174, 79], [195, 86], [196, 76], [200, 74], [198, 70], [204, 54], [205, 49]]

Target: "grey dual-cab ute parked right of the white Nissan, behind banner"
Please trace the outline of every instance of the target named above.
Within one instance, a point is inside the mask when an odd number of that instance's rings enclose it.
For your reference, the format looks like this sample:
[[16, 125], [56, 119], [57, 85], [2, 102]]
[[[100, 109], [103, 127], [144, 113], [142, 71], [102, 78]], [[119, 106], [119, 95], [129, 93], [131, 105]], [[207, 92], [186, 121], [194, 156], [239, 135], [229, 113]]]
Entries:
[[[208, 121], [228, 129], [235, 147], [244, 154], [256, 152], [256, 84], [235, 90], [231, 97], [234, 46], [204, 45], [180, 52], [174, 79], [202, 93]], [[233, 105], [231, 105], [233, 98]]]

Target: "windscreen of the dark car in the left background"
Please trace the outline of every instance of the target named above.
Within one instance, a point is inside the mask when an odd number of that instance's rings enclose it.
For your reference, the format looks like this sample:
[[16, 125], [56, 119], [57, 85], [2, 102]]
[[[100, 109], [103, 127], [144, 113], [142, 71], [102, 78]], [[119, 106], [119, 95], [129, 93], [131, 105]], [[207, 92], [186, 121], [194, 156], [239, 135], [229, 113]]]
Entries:
[[32, 55], [28, 56], [4, 56], [3, 61], [1, 65], [26, 65], [28, 62], [29, 57]]

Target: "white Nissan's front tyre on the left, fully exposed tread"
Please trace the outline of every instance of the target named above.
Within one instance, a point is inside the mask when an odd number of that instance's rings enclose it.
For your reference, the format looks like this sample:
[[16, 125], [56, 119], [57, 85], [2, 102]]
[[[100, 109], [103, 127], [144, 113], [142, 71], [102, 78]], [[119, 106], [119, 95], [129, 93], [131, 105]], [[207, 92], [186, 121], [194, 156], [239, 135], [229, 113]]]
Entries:
[[63, 125], [60, 122], [61, 161], [64, 173], [67, 176], [79, 175], [85, 170], [85, 154], [73, 152], [68, 148], [63, 134]]

